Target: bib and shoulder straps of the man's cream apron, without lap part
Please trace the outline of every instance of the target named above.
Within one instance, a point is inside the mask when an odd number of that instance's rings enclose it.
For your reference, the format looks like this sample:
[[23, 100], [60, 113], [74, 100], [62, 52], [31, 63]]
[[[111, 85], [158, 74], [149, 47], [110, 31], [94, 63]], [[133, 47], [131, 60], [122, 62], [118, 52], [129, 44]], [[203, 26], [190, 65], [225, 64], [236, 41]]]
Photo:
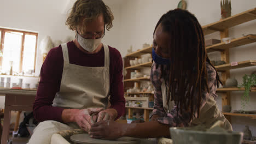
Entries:
[[82, 67], [69, 63], [67, 44], [62, 44], [64, 65], [60, 92], [53, 106], [86, 109], [106, 109], [109, 97], [109, 49], [104, 46], [104, 67]]

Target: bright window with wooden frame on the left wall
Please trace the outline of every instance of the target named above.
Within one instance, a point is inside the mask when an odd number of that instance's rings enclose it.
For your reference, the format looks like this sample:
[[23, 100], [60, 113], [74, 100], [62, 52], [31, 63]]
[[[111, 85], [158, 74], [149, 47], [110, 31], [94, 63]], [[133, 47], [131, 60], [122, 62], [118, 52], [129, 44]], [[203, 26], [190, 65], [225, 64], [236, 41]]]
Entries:
[[37, 33], [0, 28], [0, 69], [9, 73], [34, 71], [36, 67]]

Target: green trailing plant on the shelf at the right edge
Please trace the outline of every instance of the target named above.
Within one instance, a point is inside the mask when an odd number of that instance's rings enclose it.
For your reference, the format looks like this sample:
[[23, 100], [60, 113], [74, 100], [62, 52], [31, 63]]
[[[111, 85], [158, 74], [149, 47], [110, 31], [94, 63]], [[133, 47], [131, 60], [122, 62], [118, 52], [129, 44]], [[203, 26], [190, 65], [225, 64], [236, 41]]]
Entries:
[[251, 87], [254, 87], [254, 86], [256, 86], [256, 74], [244, 75], [243, 83], [240, 86], [240, 88], [241, 87], [245, 88], [245, 92], [241, 97], [242, 110], [245, 110], [246, 106], [249, 104], [249, 101], [250, 101], [249, 92], [251, 91]]

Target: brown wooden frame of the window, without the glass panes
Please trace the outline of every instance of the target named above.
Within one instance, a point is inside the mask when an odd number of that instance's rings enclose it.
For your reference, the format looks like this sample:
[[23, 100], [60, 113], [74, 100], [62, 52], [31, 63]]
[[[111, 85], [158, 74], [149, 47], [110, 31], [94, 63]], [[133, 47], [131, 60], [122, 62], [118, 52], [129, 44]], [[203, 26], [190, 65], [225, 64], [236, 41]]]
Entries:
[[[30, 35], [36, 35], [36, 46], [35, 46], [35, 51], [34, 51], [34, 71], [36, 71], [36, 58], [37, 58], [37, 43], [38, 43], [38, 33], [35, 32], [27, 32], [27, 31], [19, 31], [16, 29], [9, 29], [9, 28], [1, 28], [0, 27], [0, 31], [1, 31], [1, 39], [0, 39], [0, 49], [1, 52], [3, 53], [4, 51], [4, 35], [5, 32], [19, 32], [19, 33], [23, 33], [22, 35], [22, 43], [21, 43], [21, 55], [20, 55], [20, 68], [19, 68], [19, 72], [21, 73], [22, 71], [22, 67], [23, 67], [23, 57], [24, 57], [24, 43], [25, 43], [25, 35], [26, 34], [30, 34]], [[0, 57], [0, 65], [2, 66], [3, 64], [3, 57]], [[2, 69], [2, 68], [1, 68]]]

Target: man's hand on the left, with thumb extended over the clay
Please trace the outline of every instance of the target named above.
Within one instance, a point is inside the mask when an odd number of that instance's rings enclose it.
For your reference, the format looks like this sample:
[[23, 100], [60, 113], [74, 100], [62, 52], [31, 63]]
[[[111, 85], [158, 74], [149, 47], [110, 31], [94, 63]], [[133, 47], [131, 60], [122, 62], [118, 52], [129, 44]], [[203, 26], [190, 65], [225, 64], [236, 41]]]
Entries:
[[74, 121], [79, 125], [80, 128], [84, 129], [85, 131], [89, 131], [91, 129], [91, 125], [97, 119], [97, 115], [91, 117], [92, 113], [98, 113], [104, 110], [103, 108], [91, 108], [91, 109], [83, 109], [78, 110], [75, 113]]

